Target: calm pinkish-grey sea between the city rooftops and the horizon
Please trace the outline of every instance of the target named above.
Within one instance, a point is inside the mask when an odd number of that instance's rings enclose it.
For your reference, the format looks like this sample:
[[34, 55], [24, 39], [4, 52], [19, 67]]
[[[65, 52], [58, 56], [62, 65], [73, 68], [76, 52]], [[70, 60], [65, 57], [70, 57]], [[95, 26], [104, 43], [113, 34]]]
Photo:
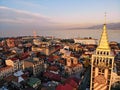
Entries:
[[[1, 30], [0, 30], [1, 31]], [[85, 37], [92, 37], [94, 39], [100, 39], [102, 34], [102, 29], [50, 29], [50, 30], [42, 30], [38, 29], [35, 30], [36, 35], [38, 36], [53, 36], [55, 38], [62, 38], [62, 39], [73, 39], [73, 38], [85, 38]], [[7, 32], [7, 33], [5, 33]], [[120, 30], [107, 30], [108, 33], [108, 40], [116, 41], [120, 43]], [[12, 37], [12, 36], [33, 36], [33, 30], [19, 30], [10, 32], [4, 31], [4, 33], [0, 32], [0, 37]]]

